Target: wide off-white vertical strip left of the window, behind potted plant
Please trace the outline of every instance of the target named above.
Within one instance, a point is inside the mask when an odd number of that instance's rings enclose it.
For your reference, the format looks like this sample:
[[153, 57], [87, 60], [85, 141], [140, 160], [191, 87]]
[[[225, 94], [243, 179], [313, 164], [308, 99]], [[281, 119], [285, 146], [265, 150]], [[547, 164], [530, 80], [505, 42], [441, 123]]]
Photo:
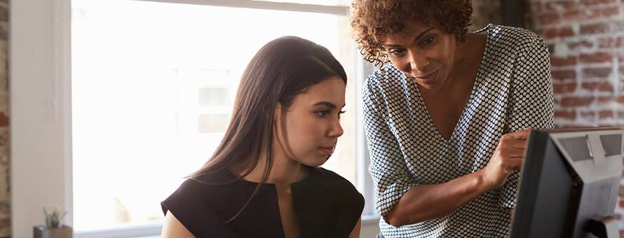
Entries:
[[11, 236], [32, 237], [44, 206], [71, 209], [69, 0], [11, 1], [9, 15]]

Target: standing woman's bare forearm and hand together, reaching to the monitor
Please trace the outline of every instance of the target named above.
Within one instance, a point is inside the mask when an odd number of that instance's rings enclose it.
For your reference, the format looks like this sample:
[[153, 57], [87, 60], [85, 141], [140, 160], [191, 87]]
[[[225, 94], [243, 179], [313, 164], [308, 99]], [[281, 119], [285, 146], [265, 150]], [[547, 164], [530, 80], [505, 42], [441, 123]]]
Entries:
[[401, 226], [439, 218], [502, 186], [511, 172], [520, 169], [530, 130], [503, 135], [486, 167], [477, 172], [445, 183], [413, 186], [390, 209], [388, 223]]

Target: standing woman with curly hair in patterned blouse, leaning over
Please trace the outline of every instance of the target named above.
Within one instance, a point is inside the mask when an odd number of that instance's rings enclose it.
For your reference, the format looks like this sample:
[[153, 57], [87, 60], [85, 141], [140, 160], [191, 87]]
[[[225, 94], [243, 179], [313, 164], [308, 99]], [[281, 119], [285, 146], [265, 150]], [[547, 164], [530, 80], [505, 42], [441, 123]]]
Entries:
[[384, 237], [508, 236], [527, 133], [553, 127], [543, 40], [500, 25], [468, 32], [471, 15], [470, 0], [349, 10], [380, 66], [362, 97]]

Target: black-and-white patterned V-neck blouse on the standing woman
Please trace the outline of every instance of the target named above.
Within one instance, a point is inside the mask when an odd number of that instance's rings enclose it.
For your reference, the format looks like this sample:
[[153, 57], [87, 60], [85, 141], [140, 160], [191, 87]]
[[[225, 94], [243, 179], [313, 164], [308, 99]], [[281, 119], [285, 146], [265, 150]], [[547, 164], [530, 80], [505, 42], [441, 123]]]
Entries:
[[[388, 211], [418, 184], [438, 184], [484, 168], [503, 134], [553, 127], [548, 48], [525, 29], [488, 25], [475, 85], [449, 140], [428, 116], [417, 84], [392, 64], [362, 88], [365, 131], [384, 237], [506, 237], [519, 174], [450, 214], [393, 227]], [[529, 158], [530, 159], [530, 158]], [[445, 204], [440, 204], [444, 206]]]

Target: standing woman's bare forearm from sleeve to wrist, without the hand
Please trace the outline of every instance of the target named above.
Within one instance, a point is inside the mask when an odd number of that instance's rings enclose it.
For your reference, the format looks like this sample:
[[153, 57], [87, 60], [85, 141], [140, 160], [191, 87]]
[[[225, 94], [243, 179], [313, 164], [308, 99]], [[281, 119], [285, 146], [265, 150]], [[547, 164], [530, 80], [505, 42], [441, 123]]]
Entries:
[[494, 187], [486, 183], [482, 170], [446, 183], [416, 185], [388, 212], [388, 223], [401, 226], [444, 216]]

